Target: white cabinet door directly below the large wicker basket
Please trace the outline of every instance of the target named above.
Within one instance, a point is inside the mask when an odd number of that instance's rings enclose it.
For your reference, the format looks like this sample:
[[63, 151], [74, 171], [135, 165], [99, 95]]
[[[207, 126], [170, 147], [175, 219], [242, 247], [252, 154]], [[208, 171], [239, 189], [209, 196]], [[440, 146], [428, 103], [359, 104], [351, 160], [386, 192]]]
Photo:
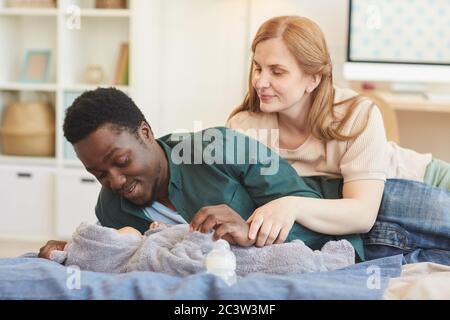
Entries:
[[0, 181], [0, 234], [24, 239], [51, 236], [54, 172], [4, 166]]

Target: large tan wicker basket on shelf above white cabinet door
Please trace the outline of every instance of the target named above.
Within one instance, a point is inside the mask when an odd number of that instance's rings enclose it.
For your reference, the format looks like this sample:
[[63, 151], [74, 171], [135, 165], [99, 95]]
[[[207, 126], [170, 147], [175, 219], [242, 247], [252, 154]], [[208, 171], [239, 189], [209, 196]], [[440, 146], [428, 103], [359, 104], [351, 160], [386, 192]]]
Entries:
[[15, 156], [55, 155], [55, 114], [42, 102], [12, 103], [3, 114], [2, 152]]

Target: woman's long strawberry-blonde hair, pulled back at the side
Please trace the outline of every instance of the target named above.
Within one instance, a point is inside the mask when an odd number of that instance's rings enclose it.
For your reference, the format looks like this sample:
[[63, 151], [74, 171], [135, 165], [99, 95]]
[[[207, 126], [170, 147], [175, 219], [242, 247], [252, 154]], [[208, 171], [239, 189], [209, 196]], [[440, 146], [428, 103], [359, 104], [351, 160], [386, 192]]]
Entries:
[[[354, 109], [363, 97], [357, 95], [350, 99], [334, 103], [335, 90], [333, 88], [333, 73], [331, 58], [325, 41], [325, 36], [319, 26], [313, 21], [300, 16], [280, 16], [272, 18], [259, 28], [252, 43], [252, 52], [256, 46], [265, 40], [281, 38], [288, 50], [297, 60], [299, 66], [308, 75], [320, 75], [321, 81], [311, 93], [312, 105], [308, 113], [308, 126], [311, 134], [324, 141], [349, 140], [357, 137], [367, 126], [369, 114], [365, 124], [352, 135], [341, 133], [349, 121]], [[259, 98], [252, 86], [253, 66], [249, 73], [249, 91], [244, 101], [230, 115], [229, 119], [241, 111], [261, 112]], [[335, 114], [334, 106], [349, 103], [344, 116]]]

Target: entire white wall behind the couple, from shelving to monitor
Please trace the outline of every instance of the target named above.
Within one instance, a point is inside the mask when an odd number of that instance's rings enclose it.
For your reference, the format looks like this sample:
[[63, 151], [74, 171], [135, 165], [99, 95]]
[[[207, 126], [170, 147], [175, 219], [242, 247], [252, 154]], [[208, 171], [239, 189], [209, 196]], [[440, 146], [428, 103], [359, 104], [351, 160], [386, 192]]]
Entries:
[[[224, 125], [247, 90], [250, 45], [277, 15], [305, 15], [322, 26], [336, 74], [345, 60], [347, 0], [139, 1], [135, 28], [136, 100], [155, 135]], [[141, 43], [145, 41], [145, 43]], [[338, 77], [339, 78], [339, 77]]]

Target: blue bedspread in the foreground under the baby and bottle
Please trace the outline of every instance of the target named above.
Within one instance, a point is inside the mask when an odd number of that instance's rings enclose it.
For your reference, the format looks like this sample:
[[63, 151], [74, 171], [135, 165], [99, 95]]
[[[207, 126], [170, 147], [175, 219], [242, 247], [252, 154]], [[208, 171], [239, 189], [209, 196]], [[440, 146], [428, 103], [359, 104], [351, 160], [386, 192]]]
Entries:
[[400, 276], [401, 261], [400, 255], [332, 272], [255, 273], [228, 287], [206, 273], [184, 278], [155, 272], [73, 273], [55, 262], [27, 256], [0, 259], [0, 299], [381, 299], [389, 278]]

